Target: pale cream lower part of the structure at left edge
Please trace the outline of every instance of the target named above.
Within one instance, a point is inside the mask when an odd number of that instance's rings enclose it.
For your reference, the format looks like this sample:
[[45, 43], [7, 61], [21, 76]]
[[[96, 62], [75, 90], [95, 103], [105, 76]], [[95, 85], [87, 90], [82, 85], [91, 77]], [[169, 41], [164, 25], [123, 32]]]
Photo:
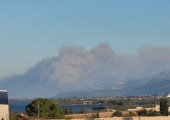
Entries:
[[0, 104], [0, 120], [9, 120], [9, 106], [6, 104]]

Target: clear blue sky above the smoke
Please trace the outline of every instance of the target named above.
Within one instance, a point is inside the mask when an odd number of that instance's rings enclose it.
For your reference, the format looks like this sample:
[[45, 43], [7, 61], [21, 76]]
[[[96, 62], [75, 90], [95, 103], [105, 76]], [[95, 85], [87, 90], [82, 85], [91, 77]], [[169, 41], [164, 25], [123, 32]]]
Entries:
[[169, 0], [0, 1], [0, 78], [23, 74], [63, 46], [108, 43], [118, 54], [170, 46]]

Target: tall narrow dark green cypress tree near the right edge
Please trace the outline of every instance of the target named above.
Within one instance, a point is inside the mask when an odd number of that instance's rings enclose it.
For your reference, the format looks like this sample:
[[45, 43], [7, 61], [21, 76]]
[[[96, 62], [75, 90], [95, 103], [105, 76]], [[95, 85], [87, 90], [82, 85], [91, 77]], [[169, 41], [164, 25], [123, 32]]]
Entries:
[[161, 113], [161, 115], [168, 116], [168, 104], [167, 104], [167, 100], [165, 98], [161, 98], [160, 113]]

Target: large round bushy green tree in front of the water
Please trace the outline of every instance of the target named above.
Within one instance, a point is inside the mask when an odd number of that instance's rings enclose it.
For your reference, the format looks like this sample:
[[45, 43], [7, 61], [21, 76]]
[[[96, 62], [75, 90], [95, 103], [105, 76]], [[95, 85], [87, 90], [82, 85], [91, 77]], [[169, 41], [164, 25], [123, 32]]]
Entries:
[[64, 112], [56, 104], [50, 102], [49, 99], [38, 98], [26, 106], [26, 113], [30, 117], [40, 118], [64, 118]]

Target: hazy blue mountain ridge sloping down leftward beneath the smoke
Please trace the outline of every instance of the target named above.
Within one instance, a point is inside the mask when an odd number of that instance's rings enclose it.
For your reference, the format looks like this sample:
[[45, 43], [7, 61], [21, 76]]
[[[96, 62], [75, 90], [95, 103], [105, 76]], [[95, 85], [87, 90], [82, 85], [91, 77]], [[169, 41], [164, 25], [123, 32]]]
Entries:
[[[130, 81], [130, 80], [129, 80]], [[138, 82], [137, 82], [138, 81]], [[170, 72], [163, 71], [160, 74], [132, 80], [123, 89], [102, 89], [83, 92], [60, 93], [55, 97], [104, 97], [104, 96], [135, 96], [170, 92]]]

